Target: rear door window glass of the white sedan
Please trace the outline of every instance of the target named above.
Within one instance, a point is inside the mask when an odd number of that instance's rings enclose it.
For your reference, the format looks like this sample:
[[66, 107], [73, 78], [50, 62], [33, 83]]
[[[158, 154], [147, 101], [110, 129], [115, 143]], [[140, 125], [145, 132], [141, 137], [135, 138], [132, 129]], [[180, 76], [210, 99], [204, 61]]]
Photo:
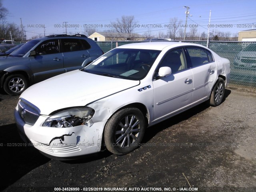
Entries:
[[187, 47], [192, 67], [212, 61], [212, 56], [208, 50], [198, 47]]

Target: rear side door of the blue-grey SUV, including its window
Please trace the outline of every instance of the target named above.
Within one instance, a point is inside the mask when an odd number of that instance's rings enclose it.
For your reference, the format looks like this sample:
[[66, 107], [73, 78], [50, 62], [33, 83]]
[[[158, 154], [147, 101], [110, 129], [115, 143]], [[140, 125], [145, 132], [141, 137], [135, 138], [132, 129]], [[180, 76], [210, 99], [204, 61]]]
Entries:
[[78, 38], [63, 38], [61, 44], [66, 72], [82, 68], [84, 60], [90, 57], [90, 44]]

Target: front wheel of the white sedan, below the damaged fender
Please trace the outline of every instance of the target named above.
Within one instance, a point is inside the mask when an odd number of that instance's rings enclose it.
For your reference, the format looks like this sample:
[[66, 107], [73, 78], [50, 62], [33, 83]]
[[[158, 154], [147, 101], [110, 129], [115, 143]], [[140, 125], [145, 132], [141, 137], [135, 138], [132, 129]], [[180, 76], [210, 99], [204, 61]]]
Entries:
[[117, 155], [135, 150], [146, 130], [145, 118], [137, 108], [116, 112], [107, 122], [104, 131], [106, 148]]

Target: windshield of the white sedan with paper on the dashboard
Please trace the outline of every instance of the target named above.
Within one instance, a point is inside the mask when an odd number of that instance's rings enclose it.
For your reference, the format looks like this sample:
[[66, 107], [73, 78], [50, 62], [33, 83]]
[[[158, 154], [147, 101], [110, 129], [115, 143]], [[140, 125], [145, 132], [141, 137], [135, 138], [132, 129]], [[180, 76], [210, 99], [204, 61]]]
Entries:
[[113, 49], [83, 70], [88, 73], [142, 80], [161, 51], [145, 49]]

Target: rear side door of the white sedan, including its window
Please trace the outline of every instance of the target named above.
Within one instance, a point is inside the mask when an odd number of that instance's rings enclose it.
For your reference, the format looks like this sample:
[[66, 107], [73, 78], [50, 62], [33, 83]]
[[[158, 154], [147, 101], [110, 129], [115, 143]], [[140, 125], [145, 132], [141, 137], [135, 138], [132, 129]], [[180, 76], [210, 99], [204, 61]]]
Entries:
[[186, 51], [194, 79], [192, 102], [200, 102], [210, 96], [217, 78], [217, 65], [212, 54], [204, 48], [187, 47]]

